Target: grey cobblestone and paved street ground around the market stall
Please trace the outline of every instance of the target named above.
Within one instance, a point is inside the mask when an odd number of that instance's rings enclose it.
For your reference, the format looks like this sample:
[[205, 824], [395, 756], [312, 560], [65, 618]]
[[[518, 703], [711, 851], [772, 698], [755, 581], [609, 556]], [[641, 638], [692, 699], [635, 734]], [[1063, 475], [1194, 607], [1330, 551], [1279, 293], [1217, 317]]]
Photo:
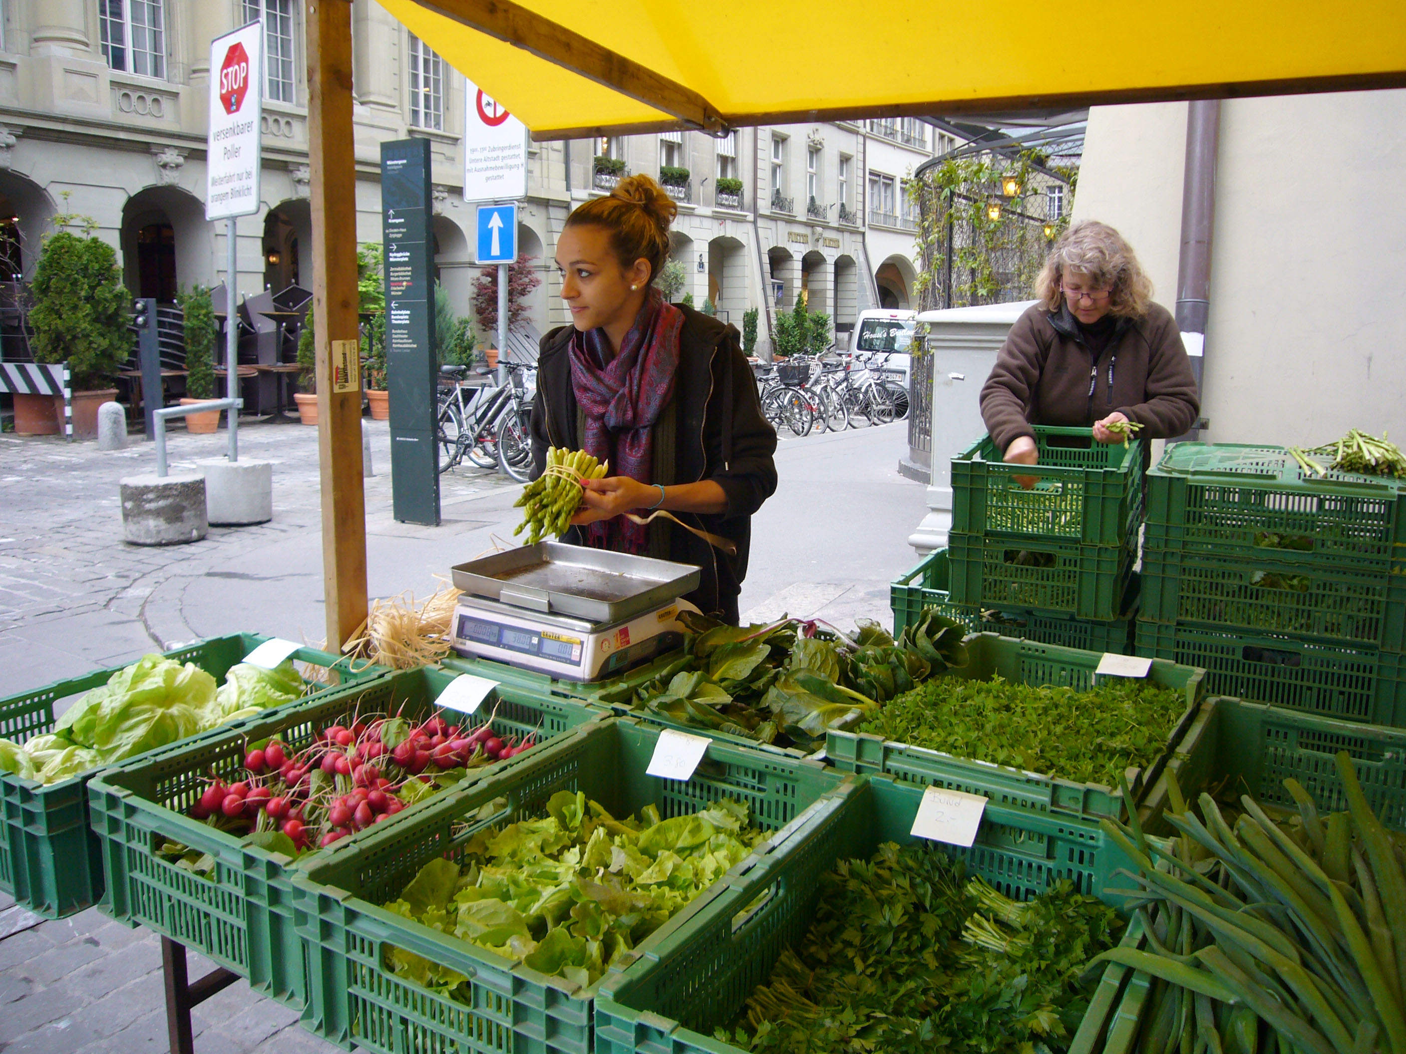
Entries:
[[[440, 527], [395, 523], [389, 433], [384, 422], [363, 423], [375, 468], [366, 481], [371, 596], [425, 596], [436, 573], [510, 537], [517, 486], [468, 467], [443, 481]], [[754, 519], [744, 617], [887, 618], [887, 583], [912, 565], [905, 538], [925, 512], [924, 488], [896, 472], [905, 434], [900, 423], [782, 441], [780, 485]], [[224, 433], [176, 431], [172, 469], [225, 447]], [[322, 639], [316, 430], [242, 427], [239, 447], [274, 462], [274, 519], [141, 548], [122, 541], [118, 481], [155, 471], [150, 443], [100, 451], [0, 436], [0, 697], [197, 637]], [[190, 956], [193, 980], [211, 968]], [[339, 1050], [245, 981], [195, 1008], [193, 1026], [197, 1054]], [[0, 1054], [166, 1048], [155, 933], [96, 909], [46, 922], [0, 895]]]

